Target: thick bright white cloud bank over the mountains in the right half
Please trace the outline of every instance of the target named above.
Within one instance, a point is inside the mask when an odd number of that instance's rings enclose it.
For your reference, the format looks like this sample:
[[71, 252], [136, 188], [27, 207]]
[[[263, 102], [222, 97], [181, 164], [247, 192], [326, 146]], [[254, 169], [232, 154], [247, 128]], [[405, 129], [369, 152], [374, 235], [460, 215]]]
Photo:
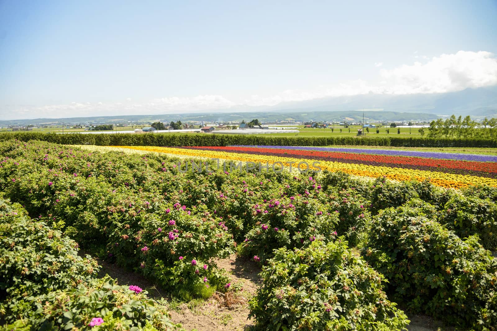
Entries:
[[[428, 59], [424, 55], [421, 57]], [[376, 67], [380, 65], [383, 63], [375, 63]], [[317, 87], [312, 91], [288, 90], [271, 97], [252, 96], [245, 103], [250, 106], [273, 106], [279, 102], [367, 93], [446, 93], [493, 86], [497, 85], [497, 59], [490, 52], [459, 51], [433, 57], [424, 64], [416, 61], [412, 65], [380, 69], [379, 74], [380, 80], [376, 84], [355, 80], [336, 86]]]

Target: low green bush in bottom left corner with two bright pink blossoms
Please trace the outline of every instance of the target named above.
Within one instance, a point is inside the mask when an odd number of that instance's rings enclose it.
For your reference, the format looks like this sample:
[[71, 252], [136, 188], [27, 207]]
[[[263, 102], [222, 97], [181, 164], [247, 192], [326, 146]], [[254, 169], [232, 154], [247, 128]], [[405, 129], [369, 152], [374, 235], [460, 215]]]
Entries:
[[[36, 297], [4, 330], [180, 329], [169, 320], [164, 305], [149, 299], [146, 291], [135, 289], [119, 286], [106, 276], [79, 288], [52, 291]], [[96, 319], [103, 323], [92, 327], [90, 323]]]

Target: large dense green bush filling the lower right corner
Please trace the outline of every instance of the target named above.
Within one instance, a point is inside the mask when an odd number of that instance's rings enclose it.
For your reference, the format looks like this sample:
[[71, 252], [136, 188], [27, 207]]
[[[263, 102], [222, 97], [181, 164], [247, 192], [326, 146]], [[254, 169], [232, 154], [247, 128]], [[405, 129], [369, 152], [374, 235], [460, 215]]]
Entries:
[[366, 260], [385, 275], [391, 298], [414, 312], [475, 330], [496, 330], [497, 260], [478, 243], [435, 221], [420, 200], [380, 212]]

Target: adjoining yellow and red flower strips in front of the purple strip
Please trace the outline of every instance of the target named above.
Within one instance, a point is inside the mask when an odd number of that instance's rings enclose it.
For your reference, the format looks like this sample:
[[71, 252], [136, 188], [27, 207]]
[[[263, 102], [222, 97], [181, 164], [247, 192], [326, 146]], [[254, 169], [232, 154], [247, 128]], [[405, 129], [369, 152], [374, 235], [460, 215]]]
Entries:
[[[397, 181], [428, 180], [444, 188], [464, 188], [470, 185], [497, 187], [497, 162], [430, 159], [409, 156], [387, 156], [346, 152], [308, 151], [260, 147], [153, 147], [116, 146], [140, 151], [153, 151], [168, 155], [200, 158], [218, 158], [226, 161], [261, 162], [270, 165], [281, 162], [284, 166], [319, 161], [323, 170], [342, 171], [350, 175], [386, 178]], [[317, 168], [313, 168], [317, 170]]]

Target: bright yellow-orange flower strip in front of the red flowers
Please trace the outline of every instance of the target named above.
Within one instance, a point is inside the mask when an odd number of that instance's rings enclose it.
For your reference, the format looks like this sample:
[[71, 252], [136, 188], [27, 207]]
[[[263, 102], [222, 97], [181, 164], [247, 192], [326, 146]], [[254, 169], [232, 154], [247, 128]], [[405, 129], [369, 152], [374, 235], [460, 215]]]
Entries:
[[[285, 166], [289, 166], [290, 163], [307, 162], [309, 165], [316, 160], [312, 159], [295, 159], [291, 157], [276, 157], [276, 156], [266, 156], [266, 155], [253, 155], [245, 153], [231, 153], [224, 151], [212, 151], [212, 150], [198, 150], [198, 149], [183, 149], [183, 148], [172, 148], [172, 147], [155, 147], [155, 146], [112, 146], [118, 148], [127, 148], [138, 151], [150, 151], [166, 153], [169, 155], [182, 155], [190, 157], [200, 157], [200, 158], [219, 158], [225, 160], [243, 161], [243, 162], [261, 162], [265, 164], [273, 164], [275, 162], [281, 162]], [[367, 177], [379, 177], [386, 176], [389, 179], [397, 181], [406, 181], [415, 179], [418, 181], [429, 180], [436, 186], [441, 186], [445, 188], [455, 188], [460, 189], [469, 185], [489, 185], [497, 187], [497, 180], [487, 177], [478, 177], [470, 175], [458, 175], [458, 174], [447, 174], [443, 172], [436, 171], [425, 171], [425, 170], [415, 170], [415, 169], [403, 169], [403, 168], [390, 168], [384, 166], [372, 166], [364, 164], [353, 164], [353, 163], [341, 163], [341, 162], [331, 162], [331, 161], [316, 161], [319, 162], [319, 167], [322, 170], [329, 171], [342, 171], [351, 175], [357, 176], [367, 176]], [[313, 168], [312, 166], [310, 166]]]

